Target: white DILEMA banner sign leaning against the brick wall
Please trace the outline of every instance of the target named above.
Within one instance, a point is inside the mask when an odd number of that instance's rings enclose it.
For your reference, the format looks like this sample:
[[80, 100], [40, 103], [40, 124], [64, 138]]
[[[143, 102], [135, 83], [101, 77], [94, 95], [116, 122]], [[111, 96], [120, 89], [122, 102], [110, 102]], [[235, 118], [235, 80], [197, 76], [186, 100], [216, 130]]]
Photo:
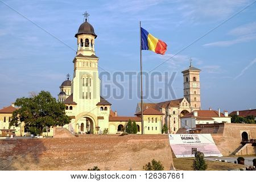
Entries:
[[206, 157], [222, 156], [210, 134], [172, 134], [169, 140], [176, 158], [194, 157], [195, 151], [203, 152]]

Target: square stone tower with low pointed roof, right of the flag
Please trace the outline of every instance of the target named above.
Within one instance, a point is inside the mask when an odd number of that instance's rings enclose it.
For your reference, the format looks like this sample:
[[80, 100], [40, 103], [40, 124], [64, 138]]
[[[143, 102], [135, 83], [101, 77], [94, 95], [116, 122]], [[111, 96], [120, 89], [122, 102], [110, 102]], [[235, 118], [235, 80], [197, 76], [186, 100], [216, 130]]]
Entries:
[[200, 71], [200, 69], [193, 67], [190, 62], [189, 68], [181, 72], [184, 78], [184, 97], [189, 102], [192, 110], [201, 109]]

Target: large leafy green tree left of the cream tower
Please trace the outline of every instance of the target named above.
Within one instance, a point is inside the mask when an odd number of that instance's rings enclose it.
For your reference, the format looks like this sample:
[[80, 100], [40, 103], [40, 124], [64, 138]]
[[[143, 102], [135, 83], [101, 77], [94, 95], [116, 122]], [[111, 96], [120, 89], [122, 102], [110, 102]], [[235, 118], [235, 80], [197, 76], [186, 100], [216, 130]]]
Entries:
[[24, 122], [34, 134], [42, 134], [44, 127], [64, 126], [71, 122], [65, 114], [65, 105], [57, 102], [49, 92], [41, 91], [33, 97], [17, 98], [15, 105], [19, 109], [13, 112], [10, 126], [18, 127], [20, 122]]

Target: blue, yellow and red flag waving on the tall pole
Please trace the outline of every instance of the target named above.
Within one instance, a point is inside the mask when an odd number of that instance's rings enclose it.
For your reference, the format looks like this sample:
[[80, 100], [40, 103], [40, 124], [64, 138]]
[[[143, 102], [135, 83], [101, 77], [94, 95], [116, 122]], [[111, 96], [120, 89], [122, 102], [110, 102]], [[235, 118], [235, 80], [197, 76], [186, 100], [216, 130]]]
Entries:
[[167, 44], [149, 34], [144, 28], [141, 28], [141, 49], [164, 55], [167, 50]]

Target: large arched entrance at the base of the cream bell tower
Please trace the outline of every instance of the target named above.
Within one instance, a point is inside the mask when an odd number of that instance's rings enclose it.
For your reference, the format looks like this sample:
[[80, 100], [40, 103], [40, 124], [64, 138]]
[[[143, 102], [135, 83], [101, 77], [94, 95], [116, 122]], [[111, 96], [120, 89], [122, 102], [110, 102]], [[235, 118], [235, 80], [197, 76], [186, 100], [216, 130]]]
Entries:
[[79, 126], [79, 134], [94, 134], [95, 125], [91, 118], [82, 117], [77, 125]]

